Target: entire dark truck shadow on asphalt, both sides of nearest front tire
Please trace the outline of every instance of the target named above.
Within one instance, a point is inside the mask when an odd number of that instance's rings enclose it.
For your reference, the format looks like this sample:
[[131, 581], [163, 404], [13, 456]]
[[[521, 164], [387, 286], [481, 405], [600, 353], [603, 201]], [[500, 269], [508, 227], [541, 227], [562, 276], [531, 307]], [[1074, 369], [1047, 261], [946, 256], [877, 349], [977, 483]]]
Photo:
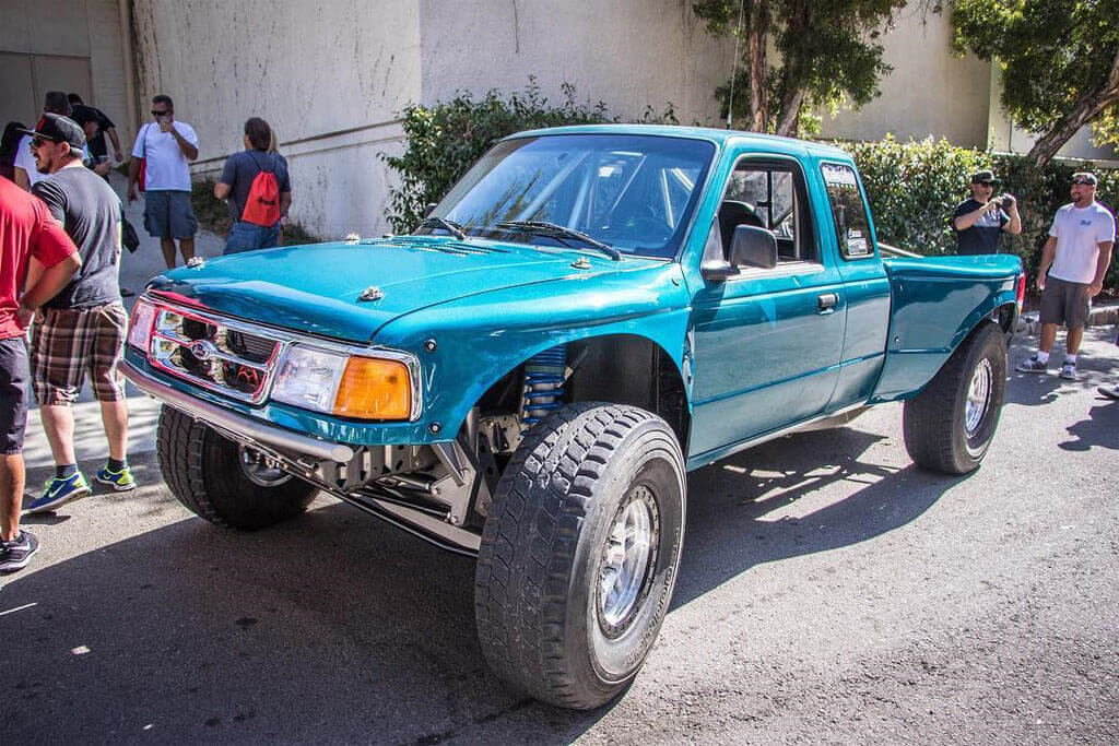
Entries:
[[[903, 526], [958, 481], [876, 464], [864, 454], [878, 440], [806, 433], [693, 474], [676, 605]], [[154, 461], [142, 468], [158, 484]], [[837, 480], [866, 485], [765, 520]], [[140, 498], [176, 510], [159, 487]], [[473, 563], [341, 504], [255, 533], [181, 520], [13, 577], [0, 592], [16, 610], [0, 616], [3, 742], [561, 743], [609, 711], [506, 689], [474, 638]]]

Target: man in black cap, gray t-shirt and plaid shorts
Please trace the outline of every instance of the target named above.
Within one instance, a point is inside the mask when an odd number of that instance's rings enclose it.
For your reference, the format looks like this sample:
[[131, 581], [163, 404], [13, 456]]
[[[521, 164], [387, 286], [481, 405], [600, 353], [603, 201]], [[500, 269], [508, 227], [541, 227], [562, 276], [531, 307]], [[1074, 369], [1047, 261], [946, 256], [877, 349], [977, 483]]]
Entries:
[[31, 327], [31, 388], [55, 457], [55, 478], [29, 512], [55, 510], [92, 492], [74, 455], [70, 405], [90, 371], [109, 438], [109, 462], [97, 481], [114, 490], [135, 487], [125, 459], [128, 406], [119, 370], [128, 314], [117, 281], [121, 259], [121, 199], [85, 168], [85, 132], [73, 120], [45, 114], [31, 133], [35, 164], [49, 176], [31, 192], [46, 202], [77, 245], [82, 268], [43, 305]]

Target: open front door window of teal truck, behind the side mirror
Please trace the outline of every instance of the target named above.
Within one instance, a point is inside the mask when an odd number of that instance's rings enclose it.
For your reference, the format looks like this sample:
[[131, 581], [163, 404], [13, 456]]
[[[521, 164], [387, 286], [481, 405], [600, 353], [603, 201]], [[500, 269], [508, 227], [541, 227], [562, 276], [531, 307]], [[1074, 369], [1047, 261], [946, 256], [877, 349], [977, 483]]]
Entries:
[[731, 255], [734, 229], [749, 225], [773, 234], [779, 264], [815, 262], [806, 195], [803, 179], [794, 167], [739, 161], [718, 210], [723, 255]]

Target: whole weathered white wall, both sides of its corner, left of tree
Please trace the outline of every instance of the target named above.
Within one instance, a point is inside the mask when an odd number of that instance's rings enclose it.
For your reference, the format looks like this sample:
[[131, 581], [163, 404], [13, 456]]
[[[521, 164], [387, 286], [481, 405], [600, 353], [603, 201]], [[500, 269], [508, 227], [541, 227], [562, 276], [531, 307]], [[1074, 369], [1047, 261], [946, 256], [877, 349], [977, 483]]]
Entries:
[[[717, 114], [714, 87], [732, 49], [687, 0], [132, 0], [142, 111], [156, 93], [200, 140], [196, 173], [242, 149], [248, 116], [276, 130], [291, 166], [292, 218], [338, 238], [388, 230], [395, 174], [378, 158], [404, 148], [397, 114], [457, 91], [524, 91], [639, 117], [668, 102], [681, 123]], [[262, 20], [263, 19], [263, 20]]]

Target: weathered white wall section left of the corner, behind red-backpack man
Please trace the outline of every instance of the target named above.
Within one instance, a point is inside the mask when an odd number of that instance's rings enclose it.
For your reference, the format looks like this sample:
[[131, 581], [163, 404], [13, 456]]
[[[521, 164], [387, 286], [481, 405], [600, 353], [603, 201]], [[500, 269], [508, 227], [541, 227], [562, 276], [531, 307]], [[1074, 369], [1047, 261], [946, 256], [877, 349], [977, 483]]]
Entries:
[[292, 219], [325, 238], [386, 228], [391, 174], [377, 158], [399, 149], [396, 113], [420, 100], [415, 0], [133, 0], [137, 76], [175, 100], [198, 132], [198, 173], [216, 176], [263, 116], [292, 178]]

